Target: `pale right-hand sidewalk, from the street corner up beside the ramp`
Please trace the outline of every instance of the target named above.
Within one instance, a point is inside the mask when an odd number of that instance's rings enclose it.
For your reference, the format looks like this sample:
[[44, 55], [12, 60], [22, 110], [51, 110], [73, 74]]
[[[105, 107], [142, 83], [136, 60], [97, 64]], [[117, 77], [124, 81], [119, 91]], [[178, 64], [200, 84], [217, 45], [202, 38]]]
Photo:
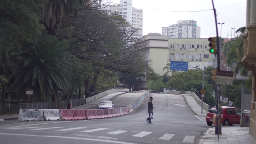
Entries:
[[[203, 118], [201, 119], [205, 121], [207, 111], [203, 109], [203, 112], [201, 112], [201, 106], [196, 102], [193, 96], [188, 94], [182, 95], [184, 96], [185, 101], [187, 102], [192, 112], [198, 116], [202, 116]], [[198, 144], [256, 144], [256, 138], [249, 134], [249, 126], [222, 126], [222, 134], [219, 134], [219, 138], [218, 134], [214, 134], [215, 126], [209, 127], [210, 128], [207, 132], [204, 133]]]

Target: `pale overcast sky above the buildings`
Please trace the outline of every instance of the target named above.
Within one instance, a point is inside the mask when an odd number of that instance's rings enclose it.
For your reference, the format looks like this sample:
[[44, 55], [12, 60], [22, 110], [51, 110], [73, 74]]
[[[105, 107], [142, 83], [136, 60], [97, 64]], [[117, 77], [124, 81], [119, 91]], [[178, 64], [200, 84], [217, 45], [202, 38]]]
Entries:
[[[119, 4], [119, 0], [112, 0]], [[195, 20], [201, 27], [201, 38], [216, 36], [212, 0], [132, 0], [134, 8], [143, 9], [143, 34], [162, 33], [162, 27], [178, 20]], [[230, 38], [231, 29], [246, 25], [246, 0], [214, 0], [217, 23], [222, 24], [222, 37]], [[182, 12], [201, 11], [203, 12]], [[170, 12], [179, 11], [179, 12]], [[220, 36], [220, 25], [218, 25]], [[233, 30], [234, 34], [234, 30]]]

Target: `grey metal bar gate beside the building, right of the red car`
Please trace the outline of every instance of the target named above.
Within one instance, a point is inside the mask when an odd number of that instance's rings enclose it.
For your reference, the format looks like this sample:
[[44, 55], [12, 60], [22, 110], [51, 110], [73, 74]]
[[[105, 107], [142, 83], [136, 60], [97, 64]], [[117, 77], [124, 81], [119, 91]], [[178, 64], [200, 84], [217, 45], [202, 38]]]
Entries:
[[242, 100], [241, 100], [241, 120], [240, 126], [250, 125], [250, 110], [251, 110], [252, 90], [242, 87]]

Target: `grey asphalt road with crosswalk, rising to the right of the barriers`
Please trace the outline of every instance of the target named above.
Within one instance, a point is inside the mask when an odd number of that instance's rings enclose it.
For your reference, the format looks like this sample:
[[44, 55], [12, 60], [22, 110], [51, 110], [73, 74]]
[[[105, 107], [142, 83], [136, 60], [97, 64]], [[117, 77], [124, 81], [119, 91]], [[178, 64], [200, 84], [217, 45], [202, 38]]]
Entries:
[[[153, 96], [153, 124], [146, 122], [147, 102], [128, 115], [78, 121], [0, 123], [2, 144], [196, 144], [208, 126], [173, 94]], [[120, 98], [116, 96], [115, 98]], [[113, 98], [113, 101], [114, 99]]]

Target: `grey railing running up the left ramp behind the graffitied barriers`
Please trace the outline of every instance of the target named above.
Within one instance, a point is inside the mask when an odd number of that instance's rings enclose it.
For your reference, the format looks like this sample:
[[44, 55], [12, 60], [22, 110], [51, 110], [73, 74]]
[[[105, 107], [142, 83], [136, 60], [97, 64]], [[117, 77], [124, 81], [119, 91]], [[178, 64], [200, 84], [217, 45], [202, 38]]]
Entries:
[[[95, 101], [99, 98], [102, 98], [108, 94], [118, 92], [117, 89], [106, 90], [100, 94], [92, 96], [90, 98], [80, 98], [72, 100], [72, 106], [79, 106], [90, 102], [91, 100]], [[68, 107], [67, 101], [59, 101], [57, 103], [57, 109], [65, 109]], [[24, 103], [24, 104], [5, 104], [0, 105], [0, 115], [1, 114], [18, 114], [20, 109], [54, 109], [55, 102], [35, 102], [35, 103]]]

